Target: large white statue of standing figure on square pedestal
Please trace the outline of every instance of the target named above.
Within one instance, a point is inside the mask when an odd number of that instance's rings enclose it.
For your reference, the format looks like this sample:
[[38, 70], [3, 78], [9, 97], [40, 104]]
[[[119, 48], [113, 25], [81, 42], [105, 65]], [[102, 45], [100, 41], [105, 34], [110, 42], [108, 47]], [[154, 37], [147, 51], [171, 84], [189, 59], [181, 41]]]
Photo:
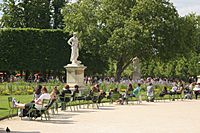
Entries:
[[79, 56], [79, 42], [77, 33], [73, 33], [73, 36], [68, 40], [68, 44], [71, 46], [72, 49], [70, 61], [72, 62], [72, 64], [80, 64], [81, 62], [77, 60]]

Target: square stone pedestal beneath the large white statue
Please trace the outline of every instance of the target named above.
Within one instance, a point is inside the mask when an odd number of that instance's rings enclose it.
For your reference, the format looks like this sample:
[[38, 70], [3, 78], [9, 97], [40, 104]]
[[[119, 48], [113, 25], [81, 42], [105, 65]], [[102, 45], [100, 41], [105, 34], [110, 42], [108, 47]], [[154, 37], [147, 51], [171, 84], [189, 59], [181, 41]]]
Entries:
[[81, 64], [68, 64], [64, 66], [67, 71], [66, 82], [70, 88], [74, 88], [74, 85], [78, 85], [80, 88], [84, 87], [84, 70], [87, 68]]

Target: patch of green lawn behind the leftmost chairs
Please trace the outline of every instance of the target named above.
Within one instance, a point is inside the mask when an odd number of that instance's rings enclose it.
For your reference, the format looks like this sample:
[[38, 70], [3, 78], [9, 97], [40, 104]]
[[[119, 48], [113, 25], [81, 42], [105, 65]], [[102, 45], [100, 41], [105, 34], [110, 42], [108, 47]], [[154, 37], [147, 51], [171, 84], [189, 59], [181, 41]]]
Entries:
[[[8, 97], [0, 96], [0, 118], [8, 116], [9, 114]], [[33, 95], [12, 95], [12, 97], [15, 97], [20, 103], [28, 103], [32, 100]]]

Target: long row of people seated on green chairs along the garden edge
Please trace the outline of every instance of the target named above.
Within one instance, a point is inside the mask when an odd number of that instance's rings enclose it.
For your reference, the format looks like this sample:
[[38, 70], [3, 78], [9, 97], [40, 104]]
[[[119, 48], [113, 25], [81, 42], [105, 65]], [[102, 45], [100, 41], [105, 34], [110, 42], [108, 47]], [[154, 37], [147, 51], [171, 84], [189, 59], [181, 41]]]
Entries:
[[[127, 83], [127, 81], [122, 83]], [[133, 84], [134, 86], [136, 84], [136, 86], [133, 87]], [[141, 88], [141, 85], [143, 85], [145, 88]], [[157, 92], [155, 93], [156, 85], [162, 85], [163, 87], [159, 94]], [[146, 92], [146, 100], [148, 102], [154, 102], [156, 97], [164, 97], [165, 95], [171, 96], [172, 100], [174, 100], [175, 95], [182, 95], [182, 98], [185, 99], [192, 99], [193, 95], [195, 96], [195, 99], [197, 99], [198, 95], [200, 95], [200, 83], [185, 83], [181, 80], [169, 81], [167, 79], [161, 80], [147, 78], [145, 80], [140, 79], [133, 82], [129, 81], [125, 92], [120, 91], [120, 88], [117, 87], [105, 92], [105, 89], [102, 89], [100, 86], [101, 83], [95, 83], [91, 86], [88, 94], [80, 95], [81, 91], [79, 90], [78, 85], [74, 86], [73, 91], [68, 84], [65, 84], [63, 89], [60, 91], [58, 90], [57, 86], [55, 86], [50, 93], [48, 93], [48, 89], [45, 86], [38, 85], [34, 90], [32, 101], [23, 104], [17, 102], [16, 99], [13, 99], [13, 106], [21, 108], [21, 115], [23, 116], [32, 107], [40, 110], [42, 108], [42, 102], [44, 99], [49, 100], [48, 106], [52, 106], [54, 101], [58, 100], [61, 103], [61, 110], [65, 110], [66, 103], [73, 100], [91, 100], [95, 103], [101, 103], [103, 98], [107, 98], [113, 102], [118, 102], [119, 104], [128, 104], [129, 98], [135, 97], [137, 98], [138, 102], [142, 102], [141, 89]], [[114, 96], [115, 98], [113, 98]]]

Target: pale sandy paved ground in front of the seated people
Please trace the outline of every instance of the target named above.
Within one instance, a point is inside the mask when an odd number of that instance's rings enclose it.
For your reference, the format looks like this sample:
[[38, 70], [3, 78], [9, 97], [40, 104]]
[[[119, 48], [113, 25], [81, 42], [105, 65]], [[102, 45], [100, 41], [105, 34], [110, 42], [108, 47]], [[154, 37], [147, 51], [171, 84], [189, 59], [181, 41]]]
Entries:
[[0, 121], [0, 133], [8, 126], [16, 133], [199, 133], [200, 101], [107, 104], [100, 109], [59, 112], [49, 121]]

